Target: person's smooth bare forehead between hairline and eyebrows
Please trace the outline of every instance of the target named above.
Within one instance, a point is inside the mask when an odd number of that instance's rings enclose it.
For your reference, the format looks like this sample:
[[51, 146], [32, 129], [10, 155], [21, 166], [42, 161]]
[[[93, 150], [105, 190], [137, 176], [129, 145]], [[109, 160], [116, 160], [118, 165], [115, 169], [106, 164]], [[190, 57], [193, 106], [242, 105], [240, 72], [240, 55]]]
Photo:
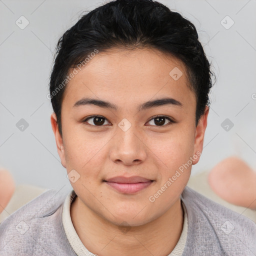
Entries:
[[127, 106], [167, 95], [184, 103], [195, 99], [183, 62], [156, 49], [110, 49], [95, 54], [77, 70], [63, 96], [62, 104], [69, 107], [82, 97]]

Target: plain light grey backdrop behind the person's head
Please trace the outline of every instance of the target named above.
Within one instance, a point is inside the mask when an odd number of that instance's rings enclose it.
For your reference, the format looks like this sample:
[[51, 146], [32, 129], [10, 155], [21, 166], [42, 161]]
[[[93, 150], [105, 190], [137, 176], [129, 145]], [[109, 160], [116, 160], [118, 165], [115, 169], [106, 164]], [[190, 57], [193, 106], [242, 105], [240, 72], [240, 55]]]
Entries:
[[[229, 155], [240, 156], [255, 169], [256, 1], [159, 1], [194, 23], [217, 78], [203, 152], [191, 175]], [[57, 154], [46, 98], [52, 54], [58, 38], [82, 11], [101, 4], [0, 0], [0, 166], [12, 173], [16, 184], [71, 188]], [[24, 29], [15, 23], [21, 15], [29, 21]], [[234, 21], [229, 29], [223, 26], [231, 24], [227, 15]], [[23, 131], [16, 127], [21, 118], [29, 124]], [[221, 126], [226, 118], [234, 124], [228, 131]]]

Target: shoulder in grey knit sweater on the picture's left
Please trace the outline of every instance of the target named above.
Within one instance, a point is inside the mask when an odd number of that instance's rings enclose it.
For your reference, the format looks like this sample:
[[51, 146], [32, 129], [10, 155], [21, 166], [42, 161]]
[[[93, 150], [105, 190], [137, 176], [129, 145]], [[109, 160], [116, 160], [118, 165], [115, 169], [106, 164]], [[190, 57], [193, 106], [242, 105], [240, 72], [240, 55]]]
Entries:
[[51, 236], [63, 231], [61, 213], [66, 195], [48, 189], [4, 219], [0, 223], [0, 255], [43, 254], [36, 249], [38, 243], [45, 243], [45, 248], [52, 243], [54, 247]]

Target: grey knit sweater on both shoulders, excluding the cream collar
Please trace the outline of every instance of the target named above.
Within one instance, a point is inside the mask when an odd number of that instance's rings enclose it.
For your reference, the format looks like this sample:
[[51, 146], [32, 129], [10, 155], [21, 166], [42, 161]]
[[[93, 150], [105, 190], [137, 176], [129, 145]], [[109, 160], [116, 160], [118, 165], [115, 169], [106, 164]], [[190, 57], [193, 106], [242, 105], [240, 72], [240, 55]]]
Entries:
[[[62, 224], [65, 197], [49, 189], [0, 223], [0, 256], [76, 256]], [[182, 256], [256, 256], [252, 220], [187, 186], [180, 198], [188, 221]]]

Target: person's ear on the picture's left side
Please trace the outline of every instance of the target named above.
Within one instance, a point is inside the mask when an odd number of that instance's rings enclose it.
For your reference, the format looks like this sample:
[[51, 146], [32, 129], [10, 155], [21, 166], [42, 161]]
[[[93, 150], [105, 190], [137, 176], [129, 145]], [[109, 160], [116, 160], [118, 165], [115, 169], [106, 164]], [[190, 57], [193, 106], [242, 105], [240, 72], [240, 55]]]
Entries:
[[55, 136], [57, 151], [58, 151], [58, 155], [59, 155], [60, 160], [61, 160], [61, 164], [64, 168], [66, 168], [65, 151], [64, 151], [63, 140], [62, 140], [62, 137], [61, 137], [61, 135], [59, 133], [59, 130], [58, 130], [57, 117], [56, 117], [56, 114], [54, 112], [50, 115], [50, 122], [51, 122], [51, 128], [52, 128], [54, 136]]

